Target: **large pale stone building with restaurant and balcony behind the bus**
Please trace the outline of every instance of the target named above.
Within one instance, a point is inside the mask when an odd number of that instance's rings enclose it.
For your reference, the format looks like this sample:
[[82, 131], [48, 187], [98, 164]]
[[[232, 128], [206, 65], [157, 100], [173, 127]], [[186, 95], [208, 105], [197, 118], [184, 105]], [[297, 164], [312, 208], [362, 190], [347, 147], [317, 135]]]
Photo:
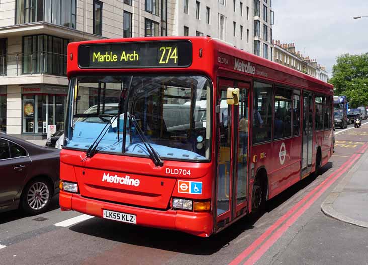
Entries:
[[0, 1], [0, 131], [64, 128], [70, 42], [210, 36], [271, 60], [272, 24], [271, 0]]

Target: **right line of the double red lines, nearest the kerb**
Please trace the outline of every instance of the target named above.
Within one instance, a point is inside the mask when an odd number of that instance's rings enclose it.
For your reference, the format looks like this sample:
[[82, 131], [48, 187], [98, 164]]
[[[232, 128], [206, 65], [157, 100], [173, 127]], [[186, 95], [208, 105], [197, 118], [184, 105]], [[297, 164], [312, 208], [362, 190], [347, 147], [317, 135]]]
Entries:
[[250, 265], [257, 262], [263, 254], [288, 230], [288, 228], [295, 223], [295, 221], [330, 187], [344, 172], [346, 172], [350, 166], [360, 158], [360, 154], [349, 163], [349, 165], [341, 170], [336, 176], [325, 186], [321, 188], [302, 208], [300, 208], [290, 219], [288, 219], [253, 255], [244, 263], [244, 265]]

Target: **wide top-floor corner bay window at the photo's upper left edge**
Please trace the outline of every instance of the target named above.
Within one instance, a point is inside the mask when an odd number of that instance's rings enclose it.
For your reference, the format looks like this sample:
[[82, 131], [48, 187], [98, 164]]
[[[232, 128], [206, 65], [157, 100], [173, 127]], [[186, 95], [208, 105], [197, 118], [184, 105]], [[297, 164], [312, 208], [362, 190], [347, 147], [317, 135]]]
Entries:
[[37, 21], [75, 29], [76, 0], [17, 0], [16, 24]]

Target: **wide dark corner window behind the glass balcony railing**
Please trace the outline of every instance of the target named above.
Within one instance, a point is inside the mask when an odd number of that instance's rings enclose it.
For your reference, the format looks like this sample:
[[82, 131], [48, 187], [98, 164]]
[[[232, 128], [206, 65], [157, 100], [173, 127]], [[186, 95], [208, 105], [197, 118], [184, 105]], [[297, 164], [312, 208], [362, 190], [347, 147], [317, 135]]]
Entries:
[[66, 75], [69, 40], [50, 35], [23, 37], [22, 74]]

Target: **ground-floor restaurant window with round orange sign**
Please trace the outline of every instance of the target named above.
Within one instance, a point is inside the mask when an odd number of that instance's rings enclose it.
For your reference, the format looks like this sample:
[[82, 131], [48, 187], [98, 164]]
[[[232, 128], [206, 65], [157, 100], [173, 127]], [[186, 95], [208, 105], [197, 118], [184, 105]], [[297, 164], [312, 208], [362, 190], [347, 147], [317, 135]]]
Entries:
[[[27, 89], [27, 87], [23, 89]], [[40, 87], [38, 89], [41, 91]], [[44, 93], [22, 95], [22, 132], [24, 134], [46, 134], [47, 125], [56, 125], [56, 130], [64, 129], [67, 88], [53, 87], [53, 89], [64, 90], [65, 92], [63, 95]]]

